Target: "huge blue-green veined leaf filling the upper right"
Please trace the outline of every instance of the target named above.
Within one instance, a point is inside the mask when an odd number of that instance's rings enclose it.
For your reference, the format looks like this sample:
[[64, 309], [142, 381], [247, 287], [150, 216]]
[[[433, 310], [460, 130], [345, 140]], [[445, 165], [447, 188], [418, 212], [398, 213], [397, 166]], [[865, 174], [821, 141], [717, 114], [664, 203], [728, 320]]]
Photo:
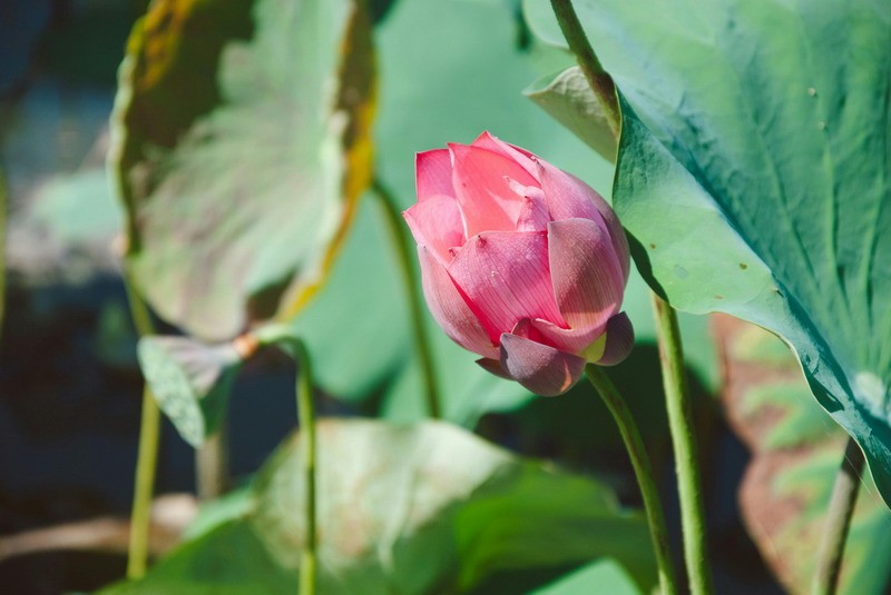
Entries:
[[577, 6], [627, 100], [614, 198], [642, 272], [783, 336], [891, 502], [888, 4]]

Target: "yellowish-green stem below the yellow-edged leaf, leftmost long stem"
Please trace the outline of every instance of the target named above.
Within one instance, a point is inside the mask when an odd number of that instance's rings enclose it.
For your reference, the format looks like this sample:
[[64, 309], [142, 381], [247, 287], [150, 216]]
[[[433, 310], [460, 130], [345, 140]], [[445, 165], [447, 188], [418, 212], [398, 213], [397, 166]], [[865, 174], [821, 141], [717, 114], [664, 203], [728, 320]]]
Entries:
[[[140, 337], [154, 331], [151, 317], [145, 303], [125, 270], [124, 285], [130, 304], [136, 333]], [[127, 556], [127, 578], [136, 579], [146, 574], [148, 565], [148, 534], [151, 523], [151, 498], [155, 494], [155, 472], [158, 465], [158, 440], [160, 437], [160, 410], [155, 396], [146, 384], [143, 388], [143, 417], [139, 424], [139, 450], [136, 458], [133, 512], [130, 514], [130, 543]]]

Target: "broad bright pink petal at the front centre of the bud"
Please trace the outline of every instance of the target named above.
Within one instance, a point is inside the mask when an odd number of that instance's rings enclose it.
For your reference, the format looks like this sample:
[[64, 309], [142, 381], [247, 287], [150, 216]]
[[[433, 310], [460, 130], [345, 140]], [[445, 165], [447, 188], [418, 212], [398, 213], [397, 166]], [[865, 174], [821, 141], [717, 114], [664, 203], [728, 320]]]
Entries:
[[490, 336], [523, 318], [562, 323], [548, 274], [547, 242], [540, 231], [487, 231], [470, 238], [449, 265], [468, 304], [492, 325]]

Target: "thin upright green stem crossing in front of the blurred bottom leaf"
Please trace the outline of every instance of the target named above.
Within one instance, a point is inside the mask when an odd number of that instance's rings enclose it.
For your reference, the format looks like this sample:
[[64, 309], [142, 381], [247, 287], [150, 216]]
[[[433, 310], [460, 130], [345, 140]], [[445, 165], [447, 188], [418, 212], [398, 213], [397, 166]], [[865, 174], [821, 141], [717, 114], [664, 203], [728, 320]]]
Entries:
[[315, 527], [315, 403], [313, 400], [313, 373], [310, 354], [303, 341], [291, 339], [297, 360], [297, 417], [300, 419], [300, 452], [303, 479], [306, 486], [303, 514], [306, 534], [300, 565], [300, 595], [315, 594], [316, 527]]

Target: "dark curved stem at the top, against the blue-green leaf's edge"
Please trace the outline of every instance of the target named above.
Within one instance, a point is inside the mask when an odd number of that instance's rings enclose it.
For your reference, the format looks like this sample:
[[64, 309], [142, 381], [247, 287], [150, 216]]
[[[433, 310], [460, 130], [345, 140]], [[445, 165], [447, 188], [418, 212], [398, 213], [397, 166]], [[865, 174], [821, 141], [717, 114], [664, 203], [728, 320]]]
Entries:
[[571, 0], [550, 0], [550, 6], [557, 17], [557, 22], [560, 24], [560, 30], [564, 32], [566, 42], [569, 43], [569, 50], [575, 54], [581, 72], [588, 80], [588, 85], [600, 100], [613, 135], [618, 138], [619, 130], [621, 130], [621, 115], [613, 77], [604, 70], [594, 48], [588, 42], [588, 37], [581, 28]]

